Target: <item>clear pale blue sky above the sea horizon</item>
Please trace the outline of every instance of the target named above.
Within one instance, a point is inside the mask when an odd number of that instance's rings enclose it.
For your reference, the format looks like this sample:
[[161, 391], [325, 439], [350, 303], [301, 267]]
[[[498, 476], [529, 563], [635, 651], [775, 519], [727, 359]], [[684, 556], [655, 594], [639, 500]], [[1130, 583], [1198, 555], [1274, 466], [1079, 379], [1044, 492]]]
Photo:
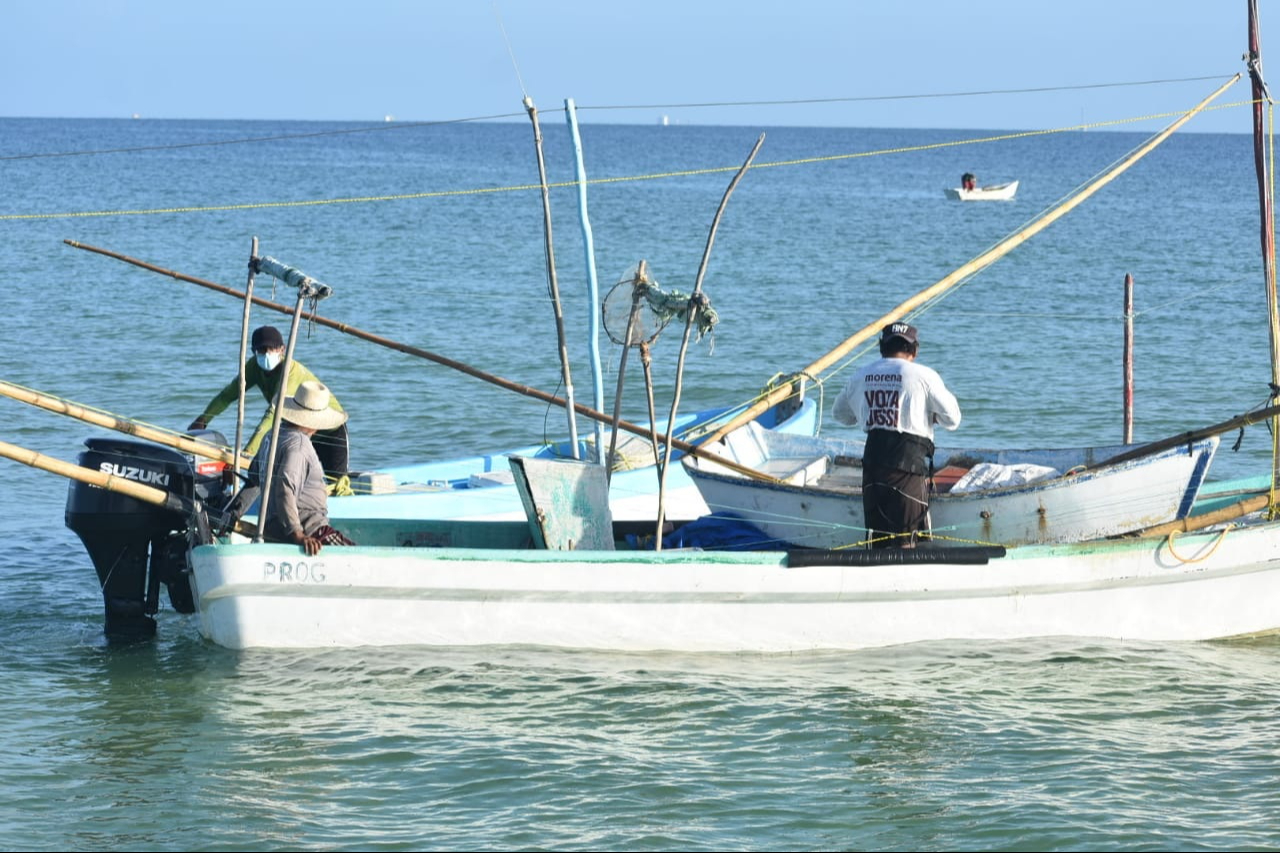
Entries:
[[[527, 93], [582, 122], [1048, 128], [1216, 83], [682, 105], [1222, 81], [1245, 49], [1245, 0], [0, 0], [0, 117], [439, 120]], [[1234, 108], [1187, 131], [1248, 128]]]

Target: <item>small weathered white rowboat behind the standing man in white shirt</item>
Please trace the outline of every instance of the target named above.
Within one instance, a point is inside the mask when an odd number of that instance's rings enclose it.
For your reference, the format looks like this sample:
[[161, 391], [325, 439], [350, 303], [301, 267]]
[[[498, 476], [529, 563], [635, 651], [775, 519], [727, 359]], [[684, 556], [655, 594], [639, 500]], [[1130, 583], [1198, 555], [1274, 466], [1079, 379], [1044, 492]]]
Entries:
[[[931, 526], [941, 539], [1021, 546], [1098, 539], [1184, 519], [1217, 443], [1208, 435], [1138, 456], [1128, 446], [940, 447]], [[751, 478], [710, 459], [686, 457], [685, 470], [717, 515], [740, 517], [786, 546], [868, 542], [863, 442], [776, 437], [751, 424], [709, 450], [776, 478]]]

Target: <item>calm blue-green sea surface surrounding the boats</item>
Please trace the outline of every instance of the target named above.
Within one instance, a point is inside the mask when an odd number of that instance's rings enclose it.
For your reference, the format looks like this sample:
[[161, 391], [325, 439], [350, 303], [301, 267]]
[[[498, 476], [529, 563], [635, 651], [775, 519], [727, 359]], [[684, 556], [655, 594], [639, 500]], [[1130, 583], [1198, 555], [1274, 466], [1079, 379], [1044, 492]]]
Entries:
[[[568, 181], [562, 118], [543, 122], [549, 179]], [[1147, 136], [929, 147], [998, 132], [586, 124], [589, 177], [609, 179], [589, 190], [602, 292], [641, 259], [692, 287], [762, 129], [710, 254], [722, 320], [691, 347], [682, 411], [804, 369]], [[1016, 201], [946, 201], [965, 170], [1021, 181]], [[527, 123], [0, 119], [0, 378], [184, 428], [236, 373], [239, 302], [63, 241], [243, 288], [257, 237], [333, 287], [323, 315], [556, 392], [536, 181]], [[550, 201], [589, 402], [576, 191]], [[922, 361], [964, 407], [956, 442], [1119, 442], [1125, 273], [1139, 441], [1262, 403], [1256, 209], [1248, 136], [1175, 136], [918, 315]], [[256, 292], [292, 306], [269, 279]], [[678, 332], [655, 348], [663, 412]], [[352, 414], [356, 469], [567, 432], [559, 410], [333, 329], [298, 347]], [[617, 356], [605, 346], [609, 401]], [[845, 377], [824, 377], [828, 403]], [[627, 391], [643, 420], [639, 371]], [[100, 432], [0, 400], [0, 441], [74, 460]], [[1253, 428], [1215, 474], [1268, 452]], [[165, 611], [154, 643], [109, 647], [65, 483], [0, 471], [6, 849], [1280, 849], [1275, 642], [238, 653]]]

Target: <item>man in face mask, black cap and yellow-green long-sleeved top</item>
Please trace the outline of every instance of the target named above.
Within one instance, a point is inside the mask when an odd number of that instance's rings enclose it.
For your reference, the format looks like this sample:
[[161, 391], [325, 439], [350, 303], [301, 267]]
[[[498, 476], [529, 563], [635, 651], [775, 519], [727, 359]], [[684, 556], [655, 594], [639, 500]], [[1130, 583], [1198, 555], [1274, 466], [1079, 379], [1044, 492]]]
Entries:
[[[268, 405], [266, 412], [264, 412], [262, 419], [257, 423], [252, 437], [244, 444], [244, 453], [247, 456], [257, 453], [262, 438], [271, 432], [271, 421], [275, 419], [275, 396], [280, 389], [280, 374], [283, 373], [280, 362], [284, 361], [284, 337], [274, 325], [262, 325], [253, 329], [251, 346], [253, 348], [253, 357], [244, 362], [244, 388], [247, 391], [257, 386], [262, 396], [266, 397]], [[301, 361], [293, 361], [289, 365], [289, 380], [284, 389], [284, 396], [292, 397], [303, 382], [317, 382], [317, 379]], [[205, 406], [205, 411], [200, 418], [191, 421], [191, 426], [187, 429], [205, 429], [209, 426], [209, 421], [236, 402], [238, 394], [239, 377], [232, 379], [225, 388], [219, 391], [218, 396]], [[329, 396], [329, 409], [339, 412], [343, 411], [338, 398], [333, 394]], [[316, 456], [320, 457], [320, 465], [324, 467], [325, 479], [330, 488], [338, 484], [338, 492], [343, 492], [344, 489], [340, 484], [343, 483], [343, 478], [347, 476], [348, 464], [346, 419], [333, 429], [316, 432], [311, 437], [311, 443], [316, 448]]]

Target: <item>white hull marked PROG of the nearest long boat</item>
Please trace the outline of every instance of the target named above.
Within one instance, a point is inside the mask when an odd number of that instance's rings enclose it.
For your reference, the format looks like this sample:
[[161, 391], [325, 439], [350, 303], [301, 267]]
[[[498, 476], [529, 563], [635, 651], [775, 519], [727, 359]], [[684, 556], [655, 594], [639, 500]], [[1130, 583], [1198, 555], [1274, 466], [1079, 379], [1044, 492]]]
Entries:
[[799, 652], [941, 639], [1207, 640], [1280, 629], [1280, 524], [1033, 546], [987, 565], [788, 567], [786, 553], [202, 546], [229, 648]]

